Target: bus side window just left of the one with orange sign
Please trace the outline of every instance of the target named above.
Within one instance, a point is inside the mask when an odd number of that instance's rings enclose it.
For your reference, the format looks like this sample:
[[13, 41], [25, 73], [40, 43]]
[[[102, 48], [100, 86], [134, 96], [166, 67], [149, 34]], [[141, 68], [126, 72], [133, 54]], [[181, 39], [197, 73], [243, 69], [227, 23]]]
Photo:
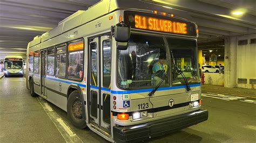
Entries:
[[56, 66], [56, 76], [65, 77], [66, 75], [66, 46], [61, 46], [57, 48], [57, 66]]

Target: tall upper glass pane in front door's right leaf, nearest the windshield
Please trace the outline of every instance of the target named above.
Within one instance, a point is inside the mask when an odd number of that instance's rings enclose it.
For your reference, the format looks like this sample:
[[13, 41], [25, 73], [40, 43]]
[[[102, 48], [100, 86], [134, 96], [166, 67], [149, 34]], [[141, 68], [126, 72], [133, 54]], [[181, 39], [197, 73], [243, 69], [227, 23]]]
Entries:
[[111, 81], [111, 49], [110, 40], [103, 41], [103, 87], [110, 88]]

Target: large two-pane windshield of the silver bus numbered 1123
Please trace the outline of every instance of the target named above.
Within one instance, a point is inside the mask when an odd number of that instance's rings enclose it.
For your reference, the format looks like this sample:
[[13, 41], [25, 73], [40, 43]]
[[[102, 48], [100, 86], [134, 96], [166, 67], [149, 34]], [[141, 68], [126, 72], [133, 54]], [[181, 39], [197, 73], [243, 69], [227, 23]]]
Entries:
[[[181, 74], [176, 73], [174, 64], [183, 72], [188, 84], [199, 82], [196, 40], [167, 38], [169, 51], [173, 53], [172, 64], [167, 62], [163, 37], [131, 34], [126, 50], [118, 51], [118, 85], [120, 88], [152, 88], [161, 81], [161, 87], [185, 85]], [[171, 67], [168, 73], [167, 67]], [[167, 74], [167, 76], [165, 76]], [[170, 79], [171, 78], [171, 79]]]

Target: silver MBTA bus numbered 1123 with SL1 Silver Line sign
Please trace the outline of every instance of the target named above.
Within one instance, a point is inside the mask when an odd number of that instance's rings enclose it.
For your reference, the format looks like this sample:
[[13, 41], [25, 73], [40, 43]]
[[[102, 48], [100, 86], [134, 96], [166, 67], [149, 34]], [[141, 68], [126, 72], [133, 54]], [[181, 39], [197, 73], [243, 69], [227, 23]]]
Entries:
[[[112, 142], [147, 140], [207, 120], [197, 25], [140, 1], [101, 1], [28, 44], [26, 86]], [[189, 18], [189, 17], [188, 17]]]

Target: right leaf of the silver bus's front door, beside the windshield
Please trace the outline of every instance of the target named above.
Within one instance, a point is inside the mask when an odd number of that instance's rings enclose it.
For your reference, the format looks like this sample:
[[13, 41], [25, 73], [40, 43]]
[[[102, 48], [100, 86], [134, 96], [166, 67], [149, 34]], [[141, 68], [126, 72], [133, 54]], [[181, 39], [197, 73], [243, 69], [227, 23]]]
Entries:
[[110, 124], [110, 81], [111, 81], [111, 39], [110, 35], [100, 37], [100, 128], [111, 134]]

